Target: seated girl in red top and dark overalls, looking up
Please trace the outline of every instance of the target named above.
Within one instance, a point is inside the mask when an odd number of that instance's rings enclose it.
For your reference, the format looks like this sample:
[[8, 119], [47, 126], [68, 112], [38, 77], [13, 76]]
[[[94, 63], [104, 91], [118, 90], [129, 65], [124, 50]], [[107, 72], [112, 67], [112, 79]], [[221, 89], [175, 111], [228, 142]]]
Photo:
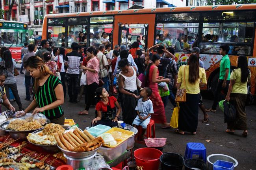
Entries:
[[[117, 99], [113, 96], [109, 97], [108, 91], [105, 88], [100, 87], [96, 89], [96, 97], [98, 103], [96, 104], [97, 117], [93, 119], [92, 125], [103, 124], [106, 126], [118, 126], [117, 121], [121, 112], [121, 107], [117, 102]], [[115, 110], [117, 107], [117, 113]]]

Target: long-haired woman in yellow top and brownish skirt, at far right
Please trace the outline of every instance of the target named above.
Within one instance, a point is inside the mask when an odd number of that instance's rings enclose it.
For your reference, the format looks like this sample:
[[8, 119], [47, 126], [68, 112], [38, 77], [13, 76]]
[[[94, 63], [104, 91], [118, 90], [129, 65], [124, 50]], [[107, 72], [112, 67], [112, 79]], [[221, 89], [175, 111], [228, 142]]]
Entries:
[[245, 102], [247, 99], [247, 83], [250, 81], [250, 70], [245, 55], [237, 58], [237, 68], [230, 75], [230, 84], [226, 100], [236, 106], [236, 120], [228, 122], [226, 132], [233, 134], [235, 130], [243, 130], [243, 136], [247, 137], [247, 116], [245, 113]]

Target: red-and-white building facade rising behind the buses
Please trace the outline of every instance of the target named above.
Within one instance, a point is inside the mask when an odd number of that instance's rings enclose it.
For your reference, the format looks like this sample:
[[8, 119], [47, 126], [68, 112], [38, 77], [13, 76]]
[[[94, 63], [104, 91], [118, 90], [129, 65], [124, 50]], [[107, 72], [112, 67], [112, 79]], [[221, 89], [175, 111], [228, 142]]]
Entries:
[[[199, 1], [199, 0], [198, 0]], [[9, 0], [2, 0], [2, 9], [9, 9]], [[87, 11], [125, 10], [133, 5], [145, 8], [186, 6], [186, 0], [14, 0], [10, 20], [26, 22], [37, 38], [42, 34], [47, 14]], [[7, 20], [7, 13], [4, 19]]]

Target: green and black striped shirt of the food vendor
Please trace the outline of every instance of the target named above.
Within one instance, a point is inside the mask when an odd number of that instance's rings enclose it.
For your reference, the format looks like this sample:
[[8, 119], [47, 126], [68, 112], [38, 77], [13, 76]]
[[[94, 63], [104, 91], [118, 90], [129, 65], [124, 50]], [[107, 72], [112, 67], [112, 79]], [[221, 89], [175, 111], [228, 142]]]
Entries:
[[[35, 94], [35, 100], [40, 108], [57, 100], [54, 89], [58, 84], [61, 84], [61, 81], [57, 77], [50, 75], [45, 84], [43, 86], [39, 86], [38, 91]], [[57, 108], [51, 110], [45, 110], [43, 114], [48, 119], [57, 119], [61, 117], [64, 112], [61, 106], [58, 106]]]

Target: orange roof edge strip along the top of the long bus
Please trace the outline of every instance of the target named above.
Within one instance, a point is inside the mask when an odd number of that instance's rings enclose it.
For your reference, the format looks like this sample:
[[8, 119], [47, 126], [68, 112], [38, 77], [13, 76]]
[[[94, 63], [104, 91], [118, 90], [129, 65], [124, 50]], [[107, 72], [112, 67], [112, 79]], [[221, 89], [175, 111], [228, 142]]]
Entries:
[[192, 12], [192, 11], [234, 11], [256, 9], [256, 4], [237, 4], [237, 5], [211, 5], [211, 6], [192, 6], [192, 7], [168, 7], [152, 9], [129, 9], [116, 11], [95, 11], [81, 13], [61, 13], [46, 15], [45, 18], [62, 18], [74, 16], [96, 16], [96, 15], [125, 15], [143, 13], [167, 13], [167, 12]]

